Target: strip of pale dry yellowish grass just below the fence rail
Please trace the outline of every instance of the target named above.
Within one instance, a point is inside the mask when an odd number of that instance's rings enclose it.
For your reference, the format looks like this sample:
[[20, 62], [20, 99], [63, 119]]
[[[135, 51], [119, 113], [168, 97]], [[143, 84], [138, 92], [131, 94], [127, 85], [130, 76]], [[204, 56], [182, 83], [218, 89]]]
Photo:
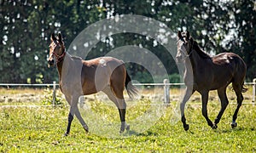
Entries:
[[[162, 88], [155, 89], [154, 92], [152, 90], [140, 90], [139, 92], [139, 98], [138, 99], [154, 99], [155, 101], [164, 101], [164, 92]], [[230, 102], [236, 102], [236, 95], [233, 93], [230, 93], [228, 91], [228, 99]], [[12, 103], [12, 102], [41, 102], [44, 99], [45, 91], [44, 89], [3, 89], [0, 88], [0, 103]], [[51, 93], [50, 93], [51, 94]], [[63, 100], [64, 96], [61, 94], [61, 91], [59, 91], [59, 94], [62, 96]], [[180, 101], [183, 97], [183, 94], [181, 94], [178, 90], [171, 90], [170, 91], [170, 101]], [[244, 101], [250, 101], [252, 96], [250, 95], [250, 92], [247, 92], [247, 94], [244, 94]], [[100, 101], [109, 101], [108, 96], [106, 94], [103, 94], [102, 92], [98, 94], [91, 94], [84, 96], [84, 101], [94, 101], [94, 100], [100, 100]], [[129, 97], [125, 92], [125, 100], [129, 101]], [[209, 101], [216, 101], [218, 99], [217, 92], [210, 92], [209, 94]], [[198, 93], [195, 93], [191, 96], [189, 101], [192, 102], [200, 102], [201, 103], [201, 95]]]

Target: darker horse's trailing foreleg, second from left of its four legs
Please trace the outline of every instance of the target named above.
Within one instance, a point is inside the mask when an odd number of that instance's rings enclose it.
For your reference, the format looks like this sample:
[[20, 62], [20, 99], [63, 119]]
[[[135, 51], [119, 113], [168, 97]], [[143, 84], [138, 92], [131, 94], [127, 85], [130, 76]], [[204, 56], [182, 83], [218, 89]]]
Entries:
[[202, 101], [202, 115], [206, 118], [207, 123], [210, 127], [212, 128], [217, 128], [216, 125], [213, 125], [212, 121], [209, 119], [208, 117], [208, 113], [207, 113], [207, 103], [208, 103], [208, 96], [209, 96], [209, 92], [204, 92], [201, 94], [201, 101]]

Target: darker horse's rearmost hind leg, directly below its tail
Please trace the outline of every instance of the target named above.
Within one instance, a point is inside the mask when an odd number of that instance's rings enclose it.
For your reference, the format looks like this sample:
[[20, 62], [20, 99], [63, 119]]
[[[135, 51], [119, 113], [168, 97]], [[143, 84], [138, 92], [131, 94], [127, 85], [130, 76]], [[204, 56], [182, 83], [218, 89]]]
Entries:
[[234, 89], [234, 91], [236, 93], [236, 100], [237, 100], [236, 111], [234, 112], [232, 123], [231, 123], [231, 127], [234, 128], [234, 127], [237, 126], [236, 118], [237, 118], [238, 111], [239, 111], [239, 109], [241, 107], [243, 96], [241, 94], [242, 85], [234, 84], [234, 82], [233, 82], [232, 86], [233, 86], [233, 89]]

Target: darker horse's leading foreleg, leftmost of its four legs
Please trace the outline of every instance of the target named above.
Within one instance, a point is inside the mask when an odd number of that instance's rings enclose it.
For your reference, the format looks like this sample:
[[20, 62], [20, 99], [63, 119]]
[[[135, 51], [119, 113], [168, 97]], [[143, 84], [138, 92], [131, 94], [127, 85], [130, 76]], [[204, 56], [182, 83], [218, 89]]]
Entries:
[[185, 95], [183, 97], [183, 101], [180, 104], [180, 111], [181, 111], [181, 121], [183, 122], [183, 128], [185, 131], [189, 130], [189, 124], [186, 123], [186, 117], [184, 114], [184, 109], [187, 101], [189, 100], [190, 96], [194, 93], [194, 90], [186, 88]]

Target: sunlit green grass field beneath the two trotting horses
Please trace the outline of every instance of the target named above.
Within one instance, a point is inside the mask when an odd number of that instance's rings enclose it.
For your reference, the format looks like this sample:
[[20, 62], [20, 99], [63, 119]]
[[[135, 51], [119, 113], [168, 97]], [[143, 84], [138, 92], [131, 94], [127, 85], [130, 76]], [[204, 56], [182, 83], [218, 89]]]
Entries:
[[[15, 96], [28, 94], [33, 90], [6, 90], [0, 89], [0, 94]], [[249, 91], [250, 92], [250, 91]], [[36, 94], [42, 91], [37, 90]], [[175, 93], [171, 92], [171, 93]], [[218, 99], [209, 101], [208, 115], [213, 120], [219, 111]], [[232, 92], [229, 92], [232, 99]], [[201, 115], [200, 99], [192, 98], [186, 108], [189, 131], [185, 132], [179, 118], [175, 117], [174, 110], [177, 101], [171, 105], [159, 106], [163, 115], [153, 122], [154, 124], [142, 133], [137, 131], [140, 125], [133, 122], [143, 112], [150, 111], [147, 100], [141, 100], [136, 105], [128, 105], [127, 122], [131, 123], [131, 131], [119, 134], [119, 127], [103, 133], [116, 134], [114, 138], [96, 133], [107, 126], [98, 120], [98, 116], [109, 122], [118, 122], [118, 111], [111, 105], [104, 105], [101, 99], [90, 103], [90, 111], [97, 117], [86, 114], [82, 110], [85, 122], [91, 129], [85, 133], [79, 121], [73, 121], [71, 134], [63, 136], [67, 126], [68, 106], [40, 106], [40, 102], [16, 102], [15, 100], [0, 103], [0, 152], [255, 152], [256, 151], [256, 110], [250, 104], [250, 99], [245, 100], [238, 114], [238, 127], [230, 127], [231, 117], [236, 105], [230, 104], [224, 116], [218, 123], [218, 129], [212, 130]], [[247, 96], [249, 97], [249, 96]], [[230, 100], [230, 103], [235, 100]], [[108, 103], [107, 103], [108, 104]], [[26, 107], [7, 107], [3, 105], [26, 105]], [[33, 106], [27, 106], [33, 105]], [[39, 105], [39, 106], [35, 106]], [[157, 106], [155, 106], [157, 107]], [[158, 110], [158, 111], [160, 111]], [[154, 115], [154, 113], [153, 113]], [[86, 117], [87, 116], [87, 117]], [[154, 116], [152, 116], [154, 117]], [[174, 118], [173, 118], [174, 117]], [[94, 120], [95, 119], [95, 120]], [[94, 120], [94, 121], [93, 121]], [[175, 122], [178, 120], [177, 122]], [[91, 123], [90, 123], [91, 122]], [[89, 124], [90, 123], [90, 124]]]

